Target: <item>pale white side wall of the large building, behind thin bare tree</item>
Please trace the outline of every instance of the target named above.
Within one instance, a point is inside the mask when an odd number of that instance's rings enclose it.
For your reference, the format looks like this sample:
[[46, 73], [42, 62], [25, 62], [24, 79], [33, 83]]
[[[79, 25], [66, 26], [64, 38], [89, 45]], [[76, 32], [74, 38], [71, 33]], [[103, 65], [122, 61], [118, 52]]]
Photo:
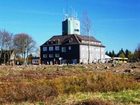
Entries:
[[98, 46], [89, 46], [88, 48], [88, 45], [80, 45], [80, 62], [88, 63], [88, 56], [89, 63], [98, 61], [104, 62], [105, 48]]

